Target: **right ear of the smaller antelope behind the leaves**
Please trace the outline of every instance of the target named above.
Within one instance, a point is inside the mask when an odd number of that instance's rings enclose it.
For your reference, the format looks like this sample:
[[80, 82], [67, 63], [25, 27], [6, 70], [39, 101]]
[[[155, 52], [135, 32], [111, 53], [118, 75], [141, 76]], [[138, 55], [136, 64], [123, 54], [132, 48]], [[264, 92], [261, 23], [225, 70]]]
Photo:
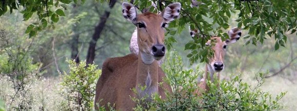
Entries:
[[239, 40], [241, 36], [241, 30], [237, 27], [232, 28], [231, 30], [228, 31], [228, 35], [230, 39], [226, 40], [226, 44], [235, 43], [236, 41]]

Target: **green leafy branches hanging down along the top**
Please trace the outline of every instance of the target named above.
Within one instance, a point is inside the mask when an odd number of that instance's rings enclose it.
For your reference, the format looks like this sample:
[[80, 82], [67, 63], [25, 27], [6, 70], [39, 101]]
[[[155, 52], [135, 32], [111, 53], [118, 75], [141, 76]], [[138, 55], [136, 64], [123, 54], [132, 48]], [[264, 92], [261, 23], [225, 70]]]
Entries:
[[[10, 13], [13, 9], [18, 9], [23, 14], [24, 20], [29, 20], [36, 13], [38, 21], [30, 24], [25, 31], [32, 37], [44, 28], [54, 28], [54, 23], [59, 21], [60, 16], [67, 16], [64, 10], [67, 9], [67, 4], [72, 2], [78, 4], [78, 2], [84, 3], [85, 0], [9, 0], [0, 3], [0, 16], [8, 9]], [[211, 36], [220, 36], [222, 40], [228, 38], [224, 30], [230, 28], [231, 13], [238, 14], [234, 23], [243, 30], [248, 30], [248, 34], [243, 37], [247, 40], [246, 45], [263, 44], [269, 36], [276, 40], [274, 47], [277, 50], [280, 46], [285, 47], [287, 42], [285, 33], [292, 34], [297, 30], [296, 0], [130, 0], [130, 2], [140, 10], [150, 7], [151, 12], [161, 11], [170, 3], [180, 2], [181, 17], [170, 23], [165, 43], [170, 49], [172, 43], [176, 42], [173, 35], [181, 33], [187, 25], [191, 29], [199, 30], [202, 37], [185, 45], [185, 50], [191, 51], [187, 56], [191, 63], [198, 59], [200, 62], [207, 61], [211, 52], [210, 48], [205, 47], [205, 42]], [[152, 5], [157, 7], [151, 7]]]

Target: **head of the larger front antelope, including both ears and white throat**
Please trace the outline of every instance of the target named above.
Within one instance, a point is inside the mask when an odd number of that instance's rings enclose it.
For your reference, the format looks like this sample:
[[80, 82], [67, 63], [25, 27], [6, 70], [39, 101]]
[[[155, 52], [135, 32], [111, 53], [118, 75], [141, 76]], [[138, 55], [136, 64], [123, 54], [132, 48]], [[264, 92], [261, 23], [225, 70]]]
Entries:
[[181, 4], [177, 2], [169, 4], [162, 14], [151, 12], [137, 14], [132, 4], [122, 4], [123, 16], [137, 26], [139, 54], [145, 64], [151, 64], [154, 60], [164, 57], [165, 28], [170, 21], [179, 17], [180, 9]]

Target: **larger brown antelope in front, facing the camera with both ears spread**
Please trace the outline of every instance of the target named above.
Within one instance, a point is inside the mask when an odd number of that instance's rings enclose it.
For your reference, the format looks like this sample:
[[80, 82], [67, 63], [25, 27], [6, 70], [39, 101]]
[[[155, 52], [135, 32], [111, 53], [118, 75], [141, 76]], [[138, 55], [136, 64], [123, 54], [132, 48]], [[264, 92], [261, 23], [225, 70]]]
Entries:
[[[165, 55], [164, 31], [168, 22], [178, 18], [181, 4], [168, 5], [162, 14], [145, 12], [137, 14], [135, 7], [129, 3], [122, 4], [124, 18], [137, 26], [137, 43], [139, 54], [129, 54], [124, 57], [108, 58], [102, 66], [102, 75], [96, 85], [95, 110], [110, 102], [116, 110], [132, 110], [135, 107], [131, 97], [143, 97], [158, 93], [165, 98], [165, 91], [171, 91], [168, 84], [164, 89], [158, 86], [165, 77], [157, 60]], [[144, 90], [140, 87], [145, 86]], [[137, 95], [131, 90], [135, 88]], [[150, 100], [150, 99], [146, 99]]]

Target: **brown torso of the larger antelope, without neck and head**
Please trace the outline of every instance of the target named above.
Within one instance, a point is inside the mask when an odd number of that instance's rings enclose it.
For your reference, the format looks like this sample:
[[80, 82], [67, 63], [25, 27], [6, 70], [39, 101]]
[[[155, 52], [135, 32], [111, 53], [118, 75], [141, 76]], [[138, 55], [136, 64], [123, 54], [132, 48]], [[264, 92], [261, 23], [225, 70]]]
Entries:
[[[131, 64], [128, 65], [127, 64]], [[151, 68], [151, 72], [155, 72], [155, 76], [152, 76], [152, 81], [163, 82], [162, 78], [165, 77], [162, 69], [157, 65], [157, 61], [149, 67], [141, 68], [139, 71], [144, 72]], [[110, 102], [111, 106], [115, 103], [115, 108], [119, 110], [131, 110], [135, 107], [135, 102], [133, 102], [129, 96], [135, 96], [134, 92], [131, 90], [136, 86], [136, 78], [138, 67], [142, 67], [143, 62], [138, 59], [138, 55], [129, 54], [124, 57], [115, 57], [107, 59], [102, 67], [102, 75], [100, 76], [96, 87], [96, 98], [95, 102], [99, 102], [99, 105], [105, 105]], [[127, 72], [123, 74], [122, 72]], [[153, 74], [153, 73], [151, 73]], [[140, 78], [146, 78], [146, 75], [140, 75]], [[128, 80], [128, 81], [127, 81]], [[154, 84], [157, 86], [157, 84]], [[158, 86], [157, 86], [158, 87]], [[168, 84], [164, 83], [163, 88], [167, 91], [171, 91]], [[161, 87], [158, 87], [159, 95], [164, 98], [165, 93]], [[98, 95], [98, 96], [97, 96]], [[110, 95], [110, 96], [106, 96]]]

